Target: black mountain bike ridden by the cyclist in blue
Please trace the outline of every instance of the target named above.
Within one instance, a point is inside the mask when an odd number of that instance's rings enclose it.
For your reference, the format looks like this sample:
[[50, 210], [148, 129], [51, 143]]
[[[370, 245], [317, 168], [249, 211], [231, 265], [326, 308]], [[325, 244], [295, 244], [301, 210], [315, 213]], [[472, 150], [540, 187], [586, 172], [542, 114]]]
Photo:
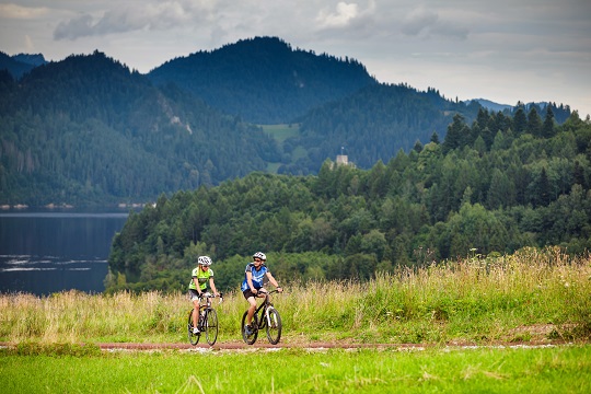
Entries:
[[281, 316], [279, 312], [275, 309], [270, 302], [269, 294], [277, 292], [277, 290], [265, 291], [265, 300], [263, 303], [255, 310], [253, 321], [251, 322], [251, 333], [246, 332], [246, 315], [248, 311], [244, 312], [242, 315], [242, 338], [248, 345], [253, 345], [258, 337], [259, 329], [267, 331], [267, 339], [273, 345], [277, 345], [281, 338]]

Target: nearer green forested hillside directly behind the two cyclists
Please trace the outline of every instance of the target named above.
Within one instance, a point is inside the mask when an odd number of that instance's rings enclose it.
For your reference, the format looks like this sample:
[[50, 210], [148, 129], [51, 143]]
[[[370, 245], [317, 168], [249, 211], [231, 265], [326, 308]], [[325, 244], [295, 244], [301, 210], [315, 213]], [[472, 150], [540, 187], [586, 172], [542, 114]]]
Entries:
[[363, 280], [525, 246], [582, 254], [591, 248], [591, 124], [575, 112], [551, 128], [551, 109], [536, 116], [521, 125], [521, 115], [482, 109], [467, 125], [457, 115], [443, 142], [434, 136], [367, 171], [326, 160], [317, 176], [253, 173], [161, 196], [115, 236], [107, 291], [184, 290], [200, 254], [213, 258], [221, 289], [235, 289], [259, 250], [281, 281]]

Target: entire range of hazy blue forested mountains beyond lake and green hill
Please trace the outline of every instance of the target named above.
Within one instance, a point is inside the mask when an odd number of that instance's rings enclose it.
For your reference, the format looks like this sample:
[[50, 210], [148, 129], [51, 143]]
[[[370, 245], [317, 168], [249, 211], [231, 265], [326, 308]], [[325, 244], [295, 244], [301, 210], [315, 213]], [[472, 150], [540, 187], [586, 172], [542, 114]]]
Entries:
[[[367, 169], [442, 141], [456, 115], [490, 130], [502, 123], [477, 102], [381, 84], [355, 60], [278, 38], [194, 54], [149, 74], [99, 51], [37, 67], [2, 61], [28, 71], [16, 79], [0, 68], [0, 204], [153, 201], [251, 172], [314, 174], [341, 151]], [[570, 113], [552, 109], [558, 123]]]

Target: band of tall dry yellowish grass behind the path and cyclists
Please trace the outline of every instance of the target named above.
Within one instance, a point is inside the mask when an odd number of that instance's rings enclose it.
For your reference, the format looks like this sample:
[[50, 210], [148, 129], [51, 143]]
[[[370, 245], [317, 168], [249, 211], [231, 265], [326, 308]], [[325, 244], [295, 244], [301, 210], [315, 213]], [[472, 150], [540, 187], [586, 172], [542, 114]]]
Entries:
[[[591, 258], [532, 248], [399, 268], [366, 283], [292, 283], [273, 300], [285, 341], [589, 340]], [[219, 340], [241, 340], [242, 294], [215, 308]], [[3, 294], [0, 340], [185, 341], [189, 309], [182, 293]]]

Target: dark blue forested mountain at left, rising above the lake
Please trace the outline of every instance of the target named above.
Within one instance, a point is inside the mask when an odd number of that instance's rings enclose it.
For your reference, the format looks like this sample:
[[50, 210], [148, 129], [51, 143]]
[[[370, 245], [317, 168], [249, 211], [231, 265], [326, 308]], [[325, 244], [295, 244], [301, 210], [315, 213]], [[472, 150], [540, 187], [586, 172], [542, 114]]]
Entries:
[[[278, 160], [263, 130], [104, 54], [0, 77], [0, 201], [153, 201]], [[243, 160], [247, 159], [247, 160]]]

